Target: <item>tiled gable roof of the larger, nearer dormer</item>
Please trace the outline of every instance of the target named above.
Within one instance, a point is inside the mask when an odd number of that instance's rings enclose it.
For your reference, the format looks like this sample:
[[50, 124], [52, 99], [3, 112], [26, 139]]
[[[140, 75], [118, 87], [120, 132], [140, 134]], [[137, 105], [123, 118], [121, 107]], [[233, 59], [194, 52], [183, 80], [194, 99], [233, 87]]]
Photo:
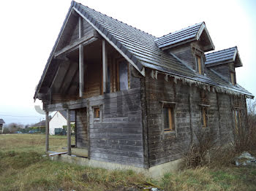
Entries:
[[204, 22], [197, 23], [193, 26], [189, 26], [179, 31], [175, 31], [173, 33], [159, 37], [158, 39], [155, 39], [155, 42], [157, 43], [157, 46], [159, 48], [163, 48], [163, 49], [176, 47], [177, 45], [180, 45], [180, 44], [198, 40], [201, 34], [203, 33], [203, 31], [206, 31], [206, 35], [208, 36], [208, 40], [211, 44], [211, 47], [206, 51], [214, 50], [214, 44], [211, 40], [211, 36], [208, 34], [208, 31], [206, 29], [206, 23]]

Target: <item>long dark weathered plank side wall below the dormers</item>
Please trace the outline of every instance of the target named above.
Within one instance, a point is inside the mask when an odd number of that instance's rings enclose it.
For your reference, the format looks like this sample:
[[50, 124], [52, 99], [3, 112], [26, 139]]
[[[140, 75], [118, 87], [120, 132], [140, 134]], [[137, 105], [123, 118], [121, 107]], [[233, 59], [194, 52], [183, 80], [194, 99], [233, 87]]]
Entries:
[[[163, 74], [158, 79], [150, 77], [146, 70], [146, 124], [148, 127], [149, 165], [159, 165], [182, 157], [196, 135], [203, 131], [210, 133], [215, 141], [227, 142], [232, 139], [233, 115], [230, 95], [206, 91], [208, 106], [208, 127], [201, 125], [202, 100], [198, 87], [176, 83], [169, 77], [166, 82]], [[190, 107], [189, 107], [190, 94]], [[162, 129], [162, 103], [176, 102], [176, 132], [164, 133]], [[219, 101], [219, 107], [218, 107]], [[244, 105], [245, 106], [245, 105]], [[189, 113], [191, 110], [191, 113]], [[220, 117], [220, 120], [219, 120]], [[190, 125], [191, 124], [191, 125]], [[220, 127], [219, 127], [220, 126]]]

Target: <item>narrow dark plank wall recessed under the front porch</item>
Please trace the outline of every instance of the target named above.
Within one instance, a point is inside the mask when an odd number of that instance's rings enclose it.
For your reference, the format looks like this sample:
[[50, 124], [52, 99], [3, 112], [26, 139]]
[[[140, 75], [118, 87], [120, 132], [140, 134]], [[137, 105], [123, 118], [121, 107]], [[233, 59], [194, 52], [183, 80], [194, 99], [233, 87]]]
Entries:
[[75, 110], [76, 147], [87, 148], [87, 113], [86, 108]]

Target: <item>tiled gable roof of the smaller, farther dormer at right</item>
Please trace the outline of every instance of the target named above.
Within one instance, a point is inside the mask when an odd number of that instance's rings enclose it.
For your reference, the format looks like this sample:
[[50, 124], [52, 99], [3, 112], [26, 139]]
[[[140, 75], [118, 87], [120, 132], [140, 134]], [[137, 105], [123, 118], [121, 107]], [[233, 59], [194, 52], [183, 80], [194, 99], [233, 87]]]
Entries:
[[206, 66], [216, 66], [222, 63], [236, 62], [235, 66], [243, 66], [237, 47], [230, 47], [206, 54]]

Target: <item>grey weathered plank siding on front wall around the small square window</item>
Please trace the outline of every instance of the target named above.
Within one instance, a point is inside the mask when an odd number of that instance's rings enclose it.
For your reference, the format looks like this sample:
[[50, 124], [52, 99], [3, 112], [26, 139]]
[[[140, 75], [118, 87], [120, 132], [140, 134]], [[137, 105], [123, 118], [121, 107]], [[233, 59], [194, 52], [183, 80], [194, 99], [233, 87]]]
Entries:
[[[90, 158], [143, 167], [140, 87], [89, 99]], [[94, 120], [93, 106], [102, 107]]]

